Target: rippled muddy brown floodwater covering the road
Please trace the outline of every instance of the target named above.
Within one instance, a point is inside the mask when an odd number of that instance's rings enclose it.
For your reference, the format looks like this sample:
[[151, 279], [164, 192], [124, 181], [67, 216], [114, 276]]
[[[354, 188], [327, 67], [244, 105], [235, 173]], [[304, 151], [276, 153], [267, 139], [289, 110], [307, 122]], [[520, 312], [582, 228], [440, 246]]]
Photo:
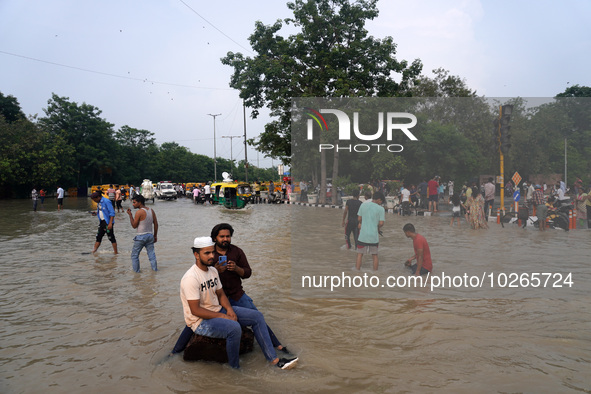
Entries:
[[[301, 276], [356, 275], [342, 211], [252, 206], [245, 211], [157, 202], [160, 271], [131, 271], [134, 230], [118, 214], [118, 256], [91, 250], [90, 200], [0, 201], [0, 392], [591, 392], [591, 232], [529, 227], [471, 231], [449, 217], [413, 217], [434, 275], [573, 273], [564, 288], [303, 289]], [[129, 203], [124, 204], [126, 207]], [[404, 275], [412, 243], [388, 214], [376, 276]], [[190, 245], [229, 222], [253, 268], [244, 285], [300, 357], [280, 371], [261, 352], [227, 365], [166, 359], [183, 326], [179, 282]], [[293, 224], [293, 230], [292, 230]], [[291, 258], [292, 238], [294, 254]], [[373, 275], [369, 259], [361, 274]]]

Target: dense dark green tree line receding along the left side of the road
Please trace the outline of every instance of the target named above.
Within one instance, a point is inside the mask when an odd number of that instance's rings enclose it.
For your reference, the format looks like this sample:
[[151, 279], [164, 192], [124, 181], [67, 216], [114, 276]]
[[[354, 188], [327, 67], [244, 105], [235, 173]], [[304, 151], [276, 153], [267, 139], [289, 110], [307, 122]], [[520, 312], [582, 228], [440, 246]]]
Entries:
[[[93, 184], [139, 184], [142, 179], [204, 182], [214, 178], [213, 159], [176, 142], [158, 145], [154, 133], [119, 130], [89, 104], [53, 94], [36, 118], [17, 98], [0, 92], [0, 190], [2, 197], [27, 196], [32, 187], [82, 190]], [[217, 159], [222, 171], [244, 179], [244, 162]], [[277, 178], [276, 169], [249, 167], [249, 180]]]

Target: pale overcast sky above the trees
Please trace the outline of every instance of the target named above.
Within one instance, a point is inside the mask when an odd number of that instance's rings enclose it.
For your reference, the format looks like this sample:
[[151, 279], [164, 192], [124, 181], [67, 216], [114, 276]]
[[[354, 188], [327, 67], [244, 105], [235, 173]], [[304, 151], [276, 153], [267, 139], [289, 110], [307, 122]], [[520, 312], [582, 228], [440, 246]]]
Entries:
[[[213, 156], [243, 159], [242, 103], [228, 86], [228, 51], [290, 16], [284, 0], [0, 0], [0, 92], [27, 115], [51, 94], [86, 102], [114, 123]], [[381, 0], [370, 34], [392, 36], [397, 58], [443, 67], [487, 97], [552, 97], [591, 86], [588, 0]], [[268, 120], [247, 119], [248, 138]], [[230, 141], [233, 141], [231, 149]], [[257, 164], [257, 153], [248, 159]], [[269, 158], [258, 155], [261, 167]], [[275, 161], [276, 165], [277, 162]]]

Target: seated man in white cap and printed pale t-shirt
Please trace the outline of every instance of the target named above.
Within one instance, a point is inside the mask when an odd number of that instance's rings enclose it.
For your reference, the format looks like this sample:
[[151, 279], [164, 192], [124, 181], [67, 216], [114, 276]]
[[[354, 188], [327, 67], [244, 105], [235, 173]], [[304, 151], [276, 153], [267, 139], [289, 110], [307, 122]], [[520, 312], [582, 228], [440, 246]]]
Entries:
[[261, 312], [230, 305], [214, 268], [215, 243], [211, 237], [195, 238], [192, 249], [195, 264], [181, 279], [181, 302], [187, 326], [195, 334], [226, 339], [228, 363], [232, 368], [240, 368], [241, 325], [252, 327], [257, 343], [272, 365], [281, 369], [295, 367], [297, 357], [277, 357]]

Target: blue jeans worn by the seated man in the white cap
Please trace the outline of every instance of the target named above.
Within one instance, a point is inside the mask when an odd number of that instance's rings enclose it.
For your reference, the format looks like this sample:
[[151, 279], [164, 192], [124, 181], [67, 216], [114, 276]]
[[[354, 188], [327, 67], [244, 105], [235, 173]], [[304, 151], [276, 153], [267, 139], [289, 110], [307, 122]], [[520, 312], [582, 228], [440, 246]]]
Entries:
[[[275, 360], [277, 354], [271, 343], [271, 338], [269, 338], [269, 332], [267, 331], [267, 324], [265, 323], [263, 314], [259, 311], [239, 306], [232, 307], [232, 309], [234, 309], [234, 313], [238, 317], [237, 322], [219, 317], [203, 320], [197, 329], [195, 329], [195, 334], [210, 338], [225, 338], [228, 364], [232, 368], [240, 368], [238, 355], [240, 352], [240, 338], [242, 336], [241, 325], [250, 326], [265, 358], [268, 361]], [[226, 313], [226, 310], [222, 308], [221, 312]]]

